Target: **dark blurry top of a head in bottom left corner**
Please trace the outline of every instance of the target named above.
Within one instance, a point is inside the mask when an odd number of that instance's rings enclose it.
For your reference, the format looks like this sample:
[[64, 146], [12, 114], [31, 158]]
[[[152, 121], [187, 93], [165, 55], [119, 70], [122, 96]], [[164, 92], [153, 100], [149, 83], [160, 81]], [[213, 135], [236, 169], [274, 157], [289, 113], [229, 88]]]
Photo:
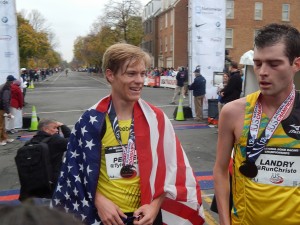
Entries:
[[0, 221], [1, 225], [82, 225], [66, 213], [31, 204], [0, 205]]

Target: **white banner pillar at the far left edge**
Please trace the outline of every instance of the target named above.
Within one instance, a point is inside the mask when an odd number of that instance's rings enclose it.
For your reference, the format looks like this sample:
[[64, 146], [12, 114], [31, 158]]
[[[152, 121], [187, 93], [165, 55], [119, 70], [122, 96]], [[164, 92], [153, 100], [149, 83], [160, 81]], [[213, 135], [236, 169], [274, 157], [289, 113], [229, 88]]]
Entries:
[[19, 48], [15, 0], [0, 0], [0, 84], [19, 78]]

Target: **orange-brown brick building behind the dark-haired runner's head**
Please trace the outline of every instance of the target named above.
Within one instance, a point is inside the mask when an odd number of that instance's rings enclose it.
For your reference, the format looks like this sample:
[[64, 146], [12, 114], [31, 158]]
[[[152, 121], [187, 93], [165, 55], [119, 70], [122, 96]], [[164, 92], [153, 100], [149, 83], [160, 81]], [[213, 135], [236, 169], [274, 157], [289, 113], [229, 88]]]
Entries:
[[253, 49], [259, 28], [269, 23], [290, 24], [300, 29], [299, 0], [226, 0], [226, 49], [239, 62]]

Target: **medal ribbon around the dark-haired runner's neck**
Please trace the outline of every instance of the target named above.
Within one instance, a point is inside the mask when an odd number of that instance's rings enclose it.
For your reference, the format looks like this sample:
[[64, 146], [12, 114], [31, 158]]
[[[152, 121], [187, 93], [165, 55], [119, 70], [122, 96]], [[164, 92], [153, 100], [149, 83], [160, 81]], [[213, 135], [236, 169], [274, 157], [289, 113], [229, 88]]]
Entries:
[[285, 114], [288, 112], [289, 108], [292, 106], [295, 99], [295, 86], [289, 94], [289, 96], [284, 100], [284, 102], [279, 106], [276, 113], [273, 115], [272, 119], [267, 124], [266, 128], [262, 132], [259, 138], [257, 138], [260, 121], [262, 116], [262, 105], [258, 100], [255, 104], [254, 111], [252, 114], [251, 124], [249, 127], [248, 140], [247, 140], [247, 160], [254, 163], [259, 157], [260, 153], [264, 150], [264, 147], [272, 137], [273, 133], [277, 129], [278, 125], [284, 118]]

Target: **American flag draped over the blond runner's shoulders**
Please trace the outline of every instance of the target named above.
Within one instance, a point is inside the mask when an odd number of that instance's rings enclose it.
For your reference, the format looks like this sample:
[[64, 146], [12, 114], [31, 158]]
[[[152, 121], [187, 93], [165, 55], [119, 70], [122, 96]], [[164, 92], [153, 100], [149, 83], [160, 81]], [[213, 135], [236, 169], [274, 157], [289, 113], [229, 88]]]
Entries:
[[[100, 171], [101, 130], [111, 98], [87, 110], [75, 124], [52, 198], [52, 206], [74, 213], [86, 224], [101, 224], [94, 198]], [[166, 225], [204, 223], [200, 187], [171, 122], [154, 106], [134, 106], [141, 203], [167, 193], [162, 205]]]

